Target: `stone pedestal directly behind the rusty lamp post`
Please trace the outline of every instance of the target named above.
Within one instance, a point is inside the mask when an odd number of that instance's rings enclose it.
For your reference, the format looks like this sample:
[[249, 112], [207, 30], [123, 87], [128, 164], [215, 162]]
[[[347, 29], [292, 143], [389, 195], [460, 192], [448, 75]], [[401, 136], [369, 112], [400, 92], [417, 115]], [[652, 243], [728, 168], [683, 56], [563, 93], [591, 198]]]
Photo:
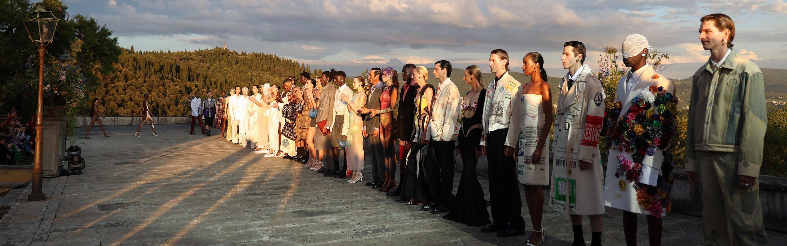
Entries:
[[62, 125], [59, 118], [46, 117], [43, 119], [41, 167], [44, 170], [44, 175], [57, 173], [57, 162], [63, 158], [65, 137], [62, 136]]

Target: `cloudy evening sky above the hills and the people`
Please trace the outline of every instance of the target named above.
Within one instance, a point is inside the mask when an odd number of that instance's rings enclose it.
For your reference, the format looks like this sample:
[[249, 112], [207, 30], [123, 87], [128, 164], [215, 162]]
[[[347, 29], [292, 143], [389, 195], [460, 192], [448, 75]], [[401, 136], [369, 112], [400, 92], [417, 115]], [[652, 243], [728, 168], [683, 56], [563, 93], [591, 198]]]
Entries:
[[[538, 51], [550, 76], [562, 76], [563, 43], [588, 47], [597, 67], [605, 46], [639, 33], [670, 54], [665, 75], [691, 76], [707, 61], [699, 19], [726, 13], [735, 20], [735, 48], [763, 68], [787, 69], [787, 2], [686, 1], [423, 1], [423, 0], [65, 0], [68, 12], [94, 17], [135, 50], [231, 50], [278, 54], [312, 68], [363, 68], [446, 59], [488, 63], [490, 50], [521, 57]], [[464, 67], [463, 67], [464, 68]], [[398, 69], [398, 68], [397, 68]], [[488, 71], [485, 71], [488, 72]]]

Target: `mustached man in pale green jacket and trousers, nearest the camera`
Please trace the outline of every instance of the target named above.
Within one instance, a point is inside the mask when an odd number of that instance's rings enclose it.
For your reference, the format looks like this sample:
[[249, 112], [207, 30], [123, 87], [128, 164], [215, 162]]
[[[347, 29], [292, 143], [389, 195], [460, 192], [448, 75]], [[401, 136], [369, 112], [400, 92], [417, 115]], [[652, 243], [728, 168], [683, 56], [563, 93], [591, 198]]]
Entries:
[[714, 13], [700, 22], [711, 58], [693, 77], [685, 169], [689, 183], [700, 185], [704, 243], [767, 244], [757, 181], [768, 120], [763, 73], [732, 49], [730, 17]]

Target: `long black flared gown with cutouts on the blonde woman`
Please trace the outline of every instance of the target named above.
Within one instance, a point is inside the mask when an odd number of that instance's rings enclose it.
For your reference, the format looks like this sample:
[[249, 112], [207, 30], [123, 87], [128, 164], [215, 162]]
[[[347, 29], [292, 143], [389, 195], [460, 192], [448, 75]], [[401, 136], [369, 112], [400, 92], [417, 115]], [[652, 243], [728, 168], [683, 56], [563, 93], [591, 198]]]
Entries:
[[[486, 200], [478, 177], [475, 176], [475, 166], [478, 158], [475, 158], [475, 150], [481, 143], [481, 129], [473, 129], [465, 132], [473, 125], [482, 122], [484, 109], [484, 95], [486, 89], [482, 89], [478, 95], [478, 107], [473, 117], [462, 117], [462, 129], [459, 133], [459, 153], [462, 156], [462, 177], [459, 181], [459, 188], [456, 189], [456, 200], [449, 214], [443, 218], [462, 222], [470, 226], [481, 226], [490, 224], [490, 214], [486, 211]], [[464, 111], [463, 111], [464, 113]], [[463, 114], [464, 115], [464, 114]]]

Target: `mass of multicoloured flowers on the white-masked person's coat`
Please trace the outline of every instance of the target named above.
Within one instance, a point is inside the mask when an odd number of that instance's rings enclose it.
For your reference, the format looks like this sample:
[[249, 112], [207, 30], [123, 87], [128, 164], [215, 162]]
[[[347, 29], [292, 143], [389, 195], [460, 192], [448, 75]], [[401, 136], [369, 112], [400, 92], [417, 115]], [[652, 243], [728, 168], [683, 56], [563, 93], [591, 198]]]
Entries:
[[[623, 110], [621, 101], [604, 111], [607, 144], [621, 151], [617, 155], [615, 177], [632, 182], [640, 207], [660, 218], [663, 211], [671, 210], [674, 162], [670, 143], [677, 130], [675, 114], [678, 98], [663, 87], [651, 86], [634, 97], [630, 104], [625, 114], [620, 114]], [[630, 153], [631, 159], [626, 158], [623, 151]], [[656, 151], [663, 154], [661, 175], [656, 186], [642, 184], [639, 182], [642, 162], [646, 156], [656, 155]]]

